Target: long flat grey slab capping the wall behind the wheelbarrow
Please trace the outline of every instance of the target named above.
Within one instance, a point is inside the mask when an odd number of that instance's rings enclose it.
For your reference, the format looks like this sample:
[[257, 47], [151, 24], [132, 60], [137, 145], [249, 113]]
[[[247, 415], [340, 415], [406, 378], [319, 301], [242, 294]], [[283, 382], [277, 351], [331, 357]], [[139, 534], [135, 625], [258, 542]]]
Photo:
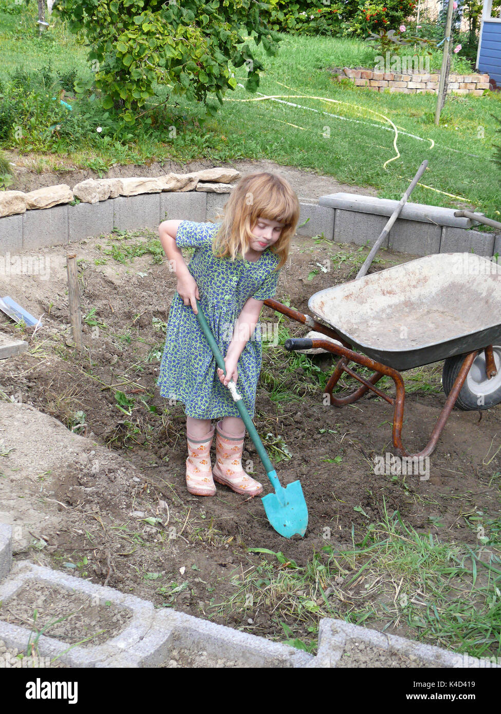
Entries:
[[[391, 201], [389, 198], [377, 198], [376, 196], [359, 196], [357, 193], [329, 193], [327, 196], [320, 196], [318, 203], [319, 206], [345, 208], [348, 211], [359, 211], [360, 213], [376, 213], [379, 216], [391, 216], [399, 201]], [[438, 226], [456, 226], [457, 228], [470, 228], [474, 224], [476, 225], [470, 218], [457, 218], [454, 215], [455, 210], [455, 208], [427, 206], [425, 203], [410, 203], [407, 201], [399, 218], [435, 223]], [[482, 216], [483, 213], [479, 215]]]

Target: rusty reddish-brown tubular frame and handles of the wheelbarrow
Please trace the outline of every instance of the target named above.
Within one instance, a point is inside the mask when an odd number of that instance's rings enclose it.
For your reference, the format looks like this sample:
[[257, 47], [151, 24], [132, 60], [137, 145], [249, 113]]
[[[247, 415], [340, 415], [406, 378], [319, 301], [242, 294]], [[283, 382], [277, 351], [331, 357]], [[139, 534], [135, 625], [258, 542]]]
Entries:
[[[329, 381], [327, 382], [327, 385], [325, 386], [324, 390], [324, 394], [327, 394], [329, 397], [330, 405], [342, 407], [346, 406], [347, 404], [352, 404], [359, 398], [364, 396], [364, 394], [367, 393], [367, 391], [369, 390], [387, 401], [389, 404], [391, 404], [393, 406], [392, 441], [393, 446], [395, 446], [397, 452], [400, 453], [400, 456], [410, 458], [425, 457], [430, 456], [430, 454], [435, 450], [440, 434], [442, 433], [442, 430], [445, 427], [445, 423], [447, 422], [447, 419], [450, 416], [452, 408], [454, 407], [457, 401], [457, 397], [459, 396], [459, 393], [462, 390], [463, 385], [465, 384], [470, 368], [472, 367], [472, 364], [479, 353], [485, 351], [487, 375], [489, 377], [492, 377], [497, 374], [492, 345], [488, 345], [485, 346], [485, 348], [471, 351], [470, 353], [468, 353], [465, 356], [464, 361], [462, 362], [460, 371], [457, 374], [457, 377], [452, 385], [452, 389], [450, 390], [449, 395], [447, 396], [445, 405], [443, 406], [442, 411], [440, 412], [440, 416], [437, 419], [437, 423], [435, 424], [435, 428], [433, 428], [432, 434], [430, 436], [430, 441], [428, 441], [427, 445], [425, 446], [425, 448], [422, 449], [422, 451], [418, 453], [409, 453], [402, 443], [402, 423], [404, 419], [405, 407], [405, 383], [400, 372], [392, 367], [388, 367], [385, 364], [377, 362], [361, 353], [353, 351], [352, 345], [345, 341], [344, 338], [342, 338], [342, 336], [340, 336], [335, 330], [323, 325], [322, 323], [319, 323], [311, 316], [305, 315], [304, 313], [294, 310], [293, 308], [289, 308], [272, 298], [268, 298], [267, 300], [265, 300], [264, 304], [267, 307], [272, 308], [273, 310], [276, 310], [279, 313], [282, 313], [282, 315], [291, 318], [292, 320], [302, 323], [303, 325], [307, 325], [313, 331], [322, 333], [323, 335], [337, 340], [339, 343], [341, 343], [339, 345], [336, 345], [328, 340], [322, 339], [293, 338], [285, 341], [284, 347], [289, 351], [310, 348], [322, 348], [327, 352], [336, 354], [340, 357], [337, 366], [334, 369], [332, 376], [330, 376]], [[348, 366], [348, 363], [350, 361], [357, 363], [362, 367], [369, 368], [374, 372], [374, 374], [372, 374], [369, 379], [364, 378], [362, 375], [358, 374], [356, 371], [354, 371]], [[336, 397], [332, 394], [332, 390], [337, 385], [337, 382], [339, 381], [343, 373], [347, 373], [352, 376], [359, 383], [361, 383], [361, 386], [359, 386], [352, 393], [349, 393], [346, 396]], [[395, 383], [395, 398], [388, 396], [384, 391], [375, 386], [383, 376], [391, 377], [393, 382]]]

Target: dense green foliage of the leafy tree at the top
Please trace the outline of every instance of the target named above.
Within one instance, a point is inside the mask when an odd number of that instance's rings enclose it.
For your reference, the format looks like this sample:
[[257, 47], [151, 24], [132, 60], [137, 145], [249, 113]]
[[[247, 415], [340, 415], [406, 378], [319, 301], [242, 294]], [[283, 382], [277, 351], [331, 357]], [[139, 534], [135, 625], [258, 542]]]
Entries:
[[267, 26], [268, 6], [257, 0], [59, 0], [54, 7], [89, 45], [104, 108], [123, 107], [128, 121], [156, 85], [172, 85], [204, 104], [215, 94], [222, 104], [237, 86], [229, 61], [246, 65], [246, 89], [256, 91], [263, 66], [241, 31], [267, 54], [278, 48], [279, 35]]

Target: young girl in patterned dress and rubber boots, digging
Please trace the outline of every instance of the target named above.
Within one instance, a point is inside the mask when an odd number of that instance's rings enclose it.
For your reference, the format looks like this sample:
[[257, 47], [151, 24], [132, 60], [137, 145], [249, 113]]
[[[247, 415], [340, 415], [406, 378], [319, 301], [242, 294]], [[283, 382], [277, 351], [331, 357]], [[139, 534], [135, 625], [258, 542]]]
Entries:
[[[242, 178], [215, 223], [164, 221], [159, 236], [177, 276], [160, 365], [160, 394], [184, 403], [187, 415], [189, 493], [214, 496], [214, 480], [257, 496], [262, 485], [242, 469], [245, 426], [227, 383], [233, 380], [254, 416], [262, 347], [256, 326], [266, 298], [274, 296], [279, 268], [299, 221], [289, 183], [269, 173]], [[179, 248], [192, 246], [186, 265]], [[226, 376], [197, 320], [197, 299], [221, 350]], [[216, 463], [210, 449], [216, 426]]]

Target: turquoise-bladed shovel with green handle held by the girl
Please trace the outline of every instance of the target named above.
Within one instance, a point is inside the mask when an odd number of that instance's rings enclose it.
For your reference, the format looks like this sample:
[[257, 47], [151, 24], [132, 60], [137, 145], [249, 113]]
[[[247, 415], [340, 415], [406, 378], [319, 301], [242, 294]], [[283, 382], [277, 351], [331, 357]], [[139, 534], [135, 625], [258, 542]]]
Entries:
[[[219, 351], [216, 341], [214, 340], [214, 336], [207, 323], [207, 318], [205, 317], [198, 300], [197, 308], [197, 318], [200, 327], [207, 338], [207, 342], [212, 349], [212, 353], [214, 353], [217, 364], [222, 369], [224, 374], [226, 374], [223, 356]], [[274, 470], [272, 462], [269, 461], [268, 454], [266, 453], [264, 446], [262, 445], [262, 441], [259, 438], [259, 434], [252, 423], [252, 419], [250, 418], [249, 412], [244, 405], [242, 396], [240, 396], [237, 391], [237, 385], [232, 380], [227, 386], [229, 391], [232, 393], [233, 401], [237, 406], [242, 420], [244, 421], [249, 436], [252, 439], [252, 443], [254, 443], [254, 446], [257, 449], [257, 453], [259, 453], [259, 458], [261, 458], [269, 481], [275, 491], [274, 493], [268, 493], [267, 496], [262, 496], [261, 498], [269, 523], [271, 523], [275, 531], [277, 531], [280, 535], [283, 535], [284, 538], [292, 538], [292, 535], [304, 535], [308, 525], [308, 509], [306, 501], [304, 501], [301, 483], [299, 483], [299, 481], [294, 481], [293, 483], [289, 483], [285, 488], [281, 486], [278, 480], [277, 472]]]

